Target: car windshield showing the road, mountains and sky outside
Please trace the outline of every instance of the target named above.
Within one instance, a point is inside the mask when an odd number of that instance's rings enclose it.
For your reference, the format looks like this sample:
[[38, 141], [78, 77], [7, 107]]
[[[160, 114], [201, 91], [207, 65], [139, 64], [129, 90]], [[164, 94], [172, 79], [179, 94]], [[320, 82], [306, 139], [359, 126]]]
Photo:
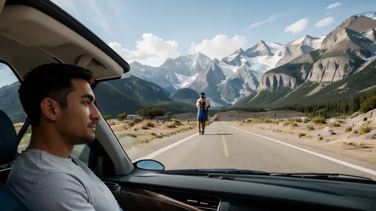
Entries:
[[132, 162], [376, 178], [376, 2], [53, 2], [130, 64], [94, 93]]

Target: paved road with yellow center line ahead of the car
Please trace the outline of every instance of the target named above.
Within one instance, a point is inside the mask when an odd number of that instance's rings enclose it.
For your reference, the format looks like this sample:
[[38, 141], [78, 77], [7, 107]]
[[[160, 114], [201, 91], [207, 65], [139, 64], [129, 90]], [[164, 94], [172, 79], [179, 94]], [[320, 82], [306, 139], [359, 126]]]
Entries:
[[268, 172], [337, 172], [375, 175], [214, 122], [195, 136], [153, 157], [166, 170], [237, 168]]

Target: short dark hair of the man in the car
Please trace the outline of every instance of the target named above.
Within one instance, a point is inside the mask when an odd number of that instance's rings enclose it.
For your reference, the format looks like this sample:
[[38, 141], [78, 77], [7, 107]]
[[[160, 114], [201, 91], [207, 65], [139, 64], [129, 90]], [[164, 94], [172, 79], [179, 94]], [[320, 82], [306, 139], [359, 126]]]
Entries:
[[94, 82], [93, 74], [83, 67], [69, 64], [42, 64], [23, 76], [18, 89], [22, 108], [28, 115], [31, 126], [38, 126], [40, 122], [40, 102], [46, 98], [56, 100], [61, 108], [67, 107], [67, 95], [74, 87], [70, 80], [79, 78], [90, 85]]

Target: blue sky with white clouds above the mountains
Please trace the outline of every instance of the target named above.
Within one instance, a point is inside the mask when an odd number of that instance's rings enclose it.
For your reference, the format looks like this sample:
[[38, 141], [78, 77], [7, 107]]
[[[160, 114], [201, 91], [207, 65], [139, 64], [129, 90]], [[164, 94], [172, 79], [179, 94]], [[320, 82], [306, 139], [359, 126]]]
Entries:
[[[351, 15], [376, 10], [376, 1], [372, 0], [52, 2], [86, 25], [126, 61], [151, 66], [197, 51], [222, 59], [259, 40], [286, 44], [306, 34], [320, 37]], [[15, 80], [6, 80], [9, 70], [7, 73], [4, 69], [7, 68], [0, 66], [0, 87]]]

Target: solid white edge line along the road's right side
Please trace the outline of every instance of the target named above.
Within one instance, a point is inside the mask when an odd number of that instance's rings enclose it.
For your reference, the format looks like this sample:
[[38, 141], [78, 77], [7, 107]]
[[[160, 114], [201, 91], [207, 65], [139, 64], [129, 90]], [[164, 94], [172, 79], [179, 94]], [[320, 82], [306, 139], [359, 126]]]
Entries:
[[[227, 123], [226, 123], [227, 124]], [[228, 125], [228, 124], [227, 124]], [[232, 127], [232, 128], [235, 128], [235, 129], [239, 129], [237, 127], [233, 127], [231, 125], [228, 125], [229, 127]], [[347, 163], [347, 162], [344, 162], [344, 161], [341, 161], [341, 160], [338, 160], [338, 159], [334, 159], [333, 157], [330, 157], [330, 156], [326, 156], [326, 155], [323, 155], [323, 154], [319, 154], [319, 153], [316, 153], [316, 152], [313, 152], [313, 151], [310, 151], [310, 150], [307, 150], [307, 149], [303, 149], [303, 148], [300, 148], [300, 147], [297, 147], [297, 146], [294, 146], [294, 145], [291, 145], [291, 144], [287, 144], [285, 142], [281, 142], [281, 141], [278, 141], [278, 140], [275, 140], [275, 139], [272, 139], [272, 138], [269, 138], [269, 137], [266, 137], [266, 136], [262, 136], [262, 135], [259, 135], [259, 134], [255, 134], [255, 133], [252, 133], [250, 131], [246, 131], [246, 130], [243, 130], [243, 129], [239, 129], [239, 130], [242, 130], [246, 133], [249, 133], [249, 134], [253, 134], [253, 135], [256, 135], [256, 136], [260, 136], [262, 138], [265, 138], [265, 139], [269, 139], [271, 141], [275, 141], [277, 143], [280, 143], [280, 144], [284, 144], [286, 146], [289, 146], [289, 147], [292, 147], [292, 148], [295, 148], [295, 149], [299, 149], [301, 151], [304, 151], [304, 152], [308, 152], [308, 153], [311, 153], [311, 154], [314, 154], [316, 156], [319, 156], [319, 157], [322, 157], [324, 159], [327, 159], [327, 160], [330, 160], [330, 161], [333, 161], [333, 162], [336, 162], [336, 163], [339, 163], [339, 164], [342, 164], [344, 166], [348, 166], [348, 167], [351, 167], [351, 168], [354, 168], [354, 169], [357, 169], [359, 171], [363, 171], [363, 172], [367, 172], [369, 174], [373, 174], [373, 175], [376, 175], [376, 171], [373, 171], [371, 169], [367, 169], [367, 168], [364, 168], [364, 167], [361, 167], [361, 166], [357, 166], [357, 165], [354, 165], [354, 164], [350, 164], [350, 163]]]

